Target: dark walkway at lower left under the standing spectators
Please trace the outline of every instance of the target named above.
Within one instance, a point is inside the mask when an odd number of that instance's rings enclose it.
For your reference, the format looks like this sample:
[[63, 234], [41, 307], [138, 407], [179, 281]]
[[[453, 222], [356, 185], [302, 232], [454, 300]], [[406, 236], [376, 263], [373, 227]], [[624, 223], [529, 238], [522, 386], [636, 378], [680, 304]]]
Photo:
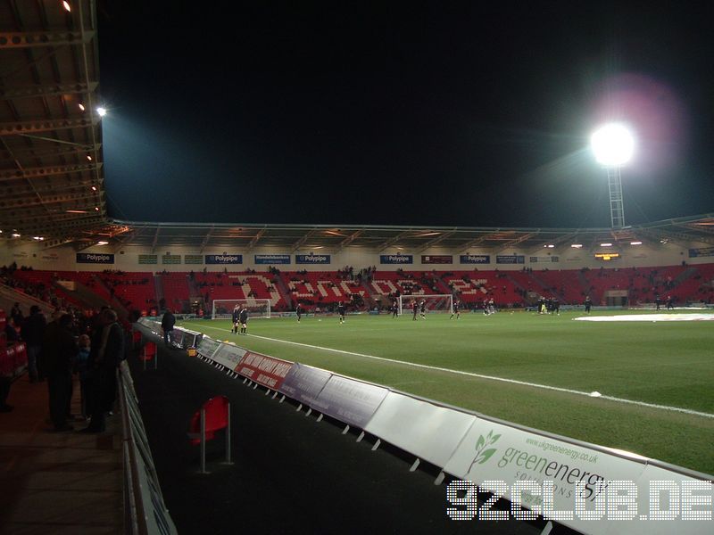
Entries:
[[[79, 384], [72, 401], [78, 414]], [[47, 383], [27, 375], [12, 384], [8, 403], [14, 410], [0, 413], [0, 533], [123, 533], [120, 416], [101, 434], [50, 431]]]

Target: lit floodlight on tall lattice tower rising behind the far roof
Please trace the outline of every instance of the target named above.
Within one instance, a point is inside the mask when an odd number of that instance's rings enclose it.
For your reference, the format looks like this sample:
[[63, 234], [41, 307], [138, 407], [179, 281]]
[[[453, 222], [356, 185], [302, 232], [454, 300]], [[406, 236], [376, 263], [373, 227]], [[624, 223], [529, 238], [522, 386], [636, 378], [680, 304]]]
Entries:
[[632, 158], [635, 138], [625, 125], [611, 123], [595, 130], [590, 144], [595, 160], [608, 172], [610, 224], [612, 228], [622, 228], [625, 226], [625, 208], [622, 202], [620, 169]]

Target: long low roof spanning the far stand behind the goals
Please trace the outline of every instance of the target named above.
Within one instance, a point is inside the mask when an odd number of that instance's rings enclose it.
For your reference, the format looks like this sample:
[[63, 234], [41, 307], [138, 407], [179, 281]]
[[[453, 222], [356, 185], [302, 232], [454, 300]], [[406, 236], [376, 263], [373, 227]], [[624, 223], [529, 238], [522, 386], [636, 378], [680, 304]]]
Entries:
[[338, 252], [347, 246], [369, 251], [419, 253], [431, 247], [469, 252], [469, 249], [496, 251], [558, 251], [580, 243], [593, 249], [600, 243], [614, 245], [642, 241], [662, 243], [705, 243], [714, 245], [714, 214], [667, 219], [623, 229], [611, 228], [496, 228], [467, 226], [370, 226], [370, 225], [279, 225], [155, 223], [112, 220], [103, 231], [75, 243], [79, 249], [109, 242], [117, 251], [140, 245], [153, 250], [176, 246], [196, 252], [252, 250], [278, 247], [283, 251]]

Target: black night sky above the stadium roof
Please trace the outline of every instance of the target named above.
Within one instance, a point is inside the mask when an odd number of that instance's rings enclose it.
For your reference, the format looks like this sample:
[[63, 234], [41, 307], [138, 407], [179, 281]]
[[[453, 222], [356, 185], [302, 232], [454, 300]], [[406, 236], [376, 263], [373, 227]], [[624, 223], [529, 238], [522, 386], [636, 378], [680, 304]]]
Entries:
[[[109, 215], [610, 226], [714, 211], [710, 3], [99, 2]], [[574, 6], [573, 4], [577, 4]]]

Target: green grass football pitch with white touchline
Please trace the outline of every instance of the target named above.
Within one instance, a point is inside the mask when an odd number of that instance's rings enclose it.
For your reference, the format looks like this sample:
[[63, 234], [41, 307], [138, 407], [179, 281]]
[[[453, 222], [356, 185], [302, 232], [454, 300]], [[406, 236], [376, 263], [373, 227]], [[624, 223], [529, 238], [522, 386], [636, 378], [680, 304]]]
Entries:
[[[345, 325], [336, 317], [303, 317], [299, 324], [253, 319], [248, 336], [229, 333], [228, 320], [179, 325], [266, 355], [714, 473], [714, 323], [573, 321], [581, 315], [353, 316]], [[616, 399], [587, 395], [593, 391]]]

